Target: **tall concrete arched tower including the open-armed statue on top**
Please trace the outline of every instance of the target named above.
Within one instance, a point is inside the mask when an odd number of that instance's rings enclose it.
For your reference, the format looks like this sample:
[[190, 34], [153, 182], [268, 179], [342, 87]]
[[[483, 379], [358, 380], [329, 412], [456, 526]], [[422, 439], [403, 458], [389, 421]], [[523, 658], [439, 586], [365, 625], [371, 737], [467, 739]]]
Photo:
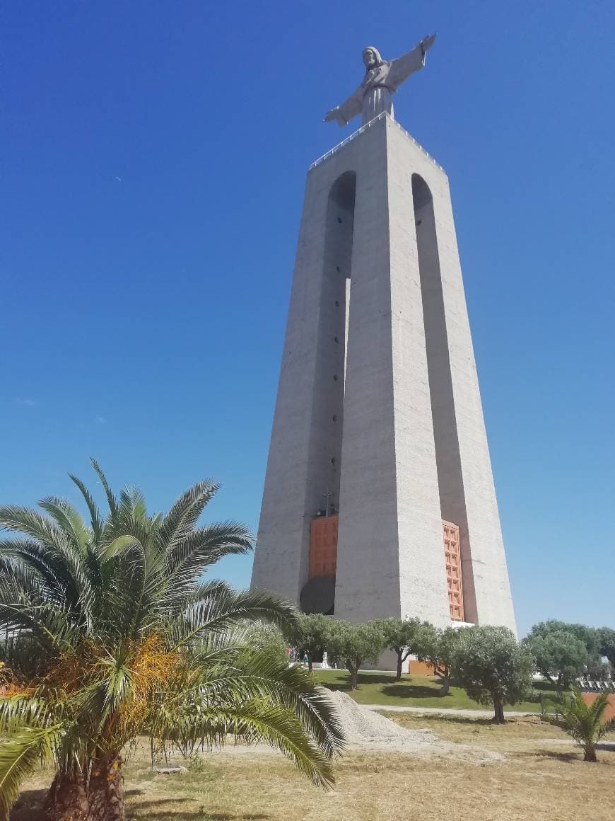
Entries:
[[252, 584], [514, 631], [449, 180], [393, 117], [434, 40], [326, 115], [363, 125], [307, 172]]

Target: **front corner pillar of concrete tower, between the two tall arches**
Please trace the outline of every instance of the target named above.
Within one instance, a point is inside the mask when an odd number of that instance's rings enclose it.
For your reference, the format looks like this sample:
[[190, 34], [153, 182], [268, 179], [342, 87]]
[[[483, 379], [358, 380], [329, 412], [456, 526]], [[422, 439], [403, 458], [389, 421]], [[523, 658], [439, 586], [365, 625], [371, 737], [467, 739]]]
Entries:
[[444, 626], [449, 607], [412, 198], [399, 185], [389, 127], [383, 118], [355, 149], [335, 615], [366, 621], [421, 613]]

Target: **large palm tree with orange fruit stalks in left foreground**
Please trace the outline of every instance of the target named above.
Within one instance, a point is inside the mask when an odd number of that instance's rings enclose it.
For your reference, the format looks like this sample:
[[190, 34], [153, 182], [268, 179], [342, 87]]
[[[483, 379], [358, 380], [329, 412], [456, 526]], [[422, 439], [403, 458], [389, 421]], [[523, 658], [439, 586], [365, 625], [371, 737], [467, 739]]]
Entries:
[[[18, 635], [2, 670], [0, 811], [39, 759], [52, 761], [48, 819], [124, 819], [122, 754], [144, 734], [183, 752], [228, 734], [264, 740], [321, 786], [343, 736], [326, 691], [301, 667], [255, 650], [255, 622], [294, 627], [290, 603], [203, 580], [251, 547], [243, 525], [198, 526], [216, 493], [204, 481], [162, 516], [137, 489], [103, 516], [47, 498], [43, 513], [0, 507], [0, 631]], [[36, 649], [36, 669], [31, 652]], [[30, 660], [29, 660], [30, 659]]]

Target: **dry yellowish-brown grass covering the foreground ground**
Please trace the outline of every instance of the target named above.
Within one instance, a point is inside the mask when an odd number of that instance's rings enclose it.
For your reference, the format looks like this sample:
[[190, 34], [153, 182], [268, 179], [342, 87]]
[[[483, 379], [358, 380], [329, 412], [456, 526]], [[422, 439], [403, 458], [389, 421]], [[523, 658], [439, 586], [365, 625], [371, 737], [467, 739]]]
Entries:
[[[153, 775], [142, 746], [126, 771], [128, 819], [153, 821], [612, 821], [615, 751], [585, 764], [567, 736], [537, 719], [493, 727], [476, 719], [397, 714], [405, 727], [428, 727], [444, 741], [498, 750], [507, 760], [353, 752], [336, 768], [335, 789], [311, 787], [280, 755], [253, 750], [205, 754], [202, 772]], [[15, 821], [34, 821], [42, 800], [34, 779]], [[38, 791], [37, 791], [38, 788]]]

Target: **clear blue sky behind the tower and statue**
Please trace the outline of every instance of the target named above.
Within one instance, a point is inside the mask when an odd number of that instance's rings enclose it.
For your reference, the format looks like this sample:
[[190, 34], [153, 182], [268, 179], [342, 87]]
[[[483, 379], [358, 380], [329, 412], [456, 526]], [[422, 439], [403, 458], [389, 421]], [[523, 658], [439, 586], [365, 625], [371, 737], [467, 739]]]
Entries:
[[451, 181], [520, 631], [615, 626], [611, 0], [2, 16], [2, 501], [93, 455], [154, 510], [216, 477], [256, 529], [305, 172], [350, 133], [321, 117], [363, 46], [436, 30], [396, 115]]

